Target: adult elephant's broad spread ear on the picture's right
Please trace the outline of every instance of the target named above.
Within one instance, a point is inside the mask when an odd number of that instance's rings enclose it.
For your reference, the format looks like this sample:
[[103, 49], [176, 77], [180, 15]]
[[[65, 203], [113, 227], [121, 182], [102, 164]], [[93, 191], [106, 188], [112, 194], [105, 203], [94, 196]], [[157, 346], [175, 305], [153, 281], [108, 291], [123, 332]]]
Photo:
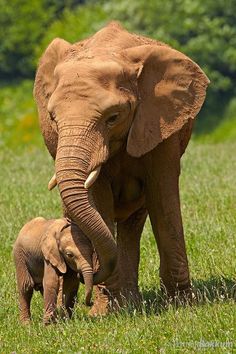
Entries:
[[127, 151], [140, 157], [196, 117], [209, 80], [190, 58], [168, 46], [143, 45], [126, 49], [123, 55], [138, 73], [140, 102]]

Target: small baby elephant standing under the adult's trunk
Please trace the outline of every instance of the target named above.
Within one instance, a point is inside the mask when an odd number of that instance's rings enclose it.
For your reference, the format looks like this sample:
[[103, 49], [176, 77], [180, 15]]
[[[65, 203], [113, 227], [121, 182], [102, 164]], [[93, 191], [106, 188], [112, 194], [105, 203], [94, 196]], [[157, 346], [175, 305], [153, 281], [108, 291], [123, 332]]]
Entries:
[[21, 321], [30, 321], [33, 290], [40, 290], [44, 297], [44, 323], [55, 320], [60, 279], [63, 279], [62, 301], [69, 316], [79, 281], [83, 279], [86, 304], [89, 305], [93, 289], [92, 254], [89, 239], [67, 219], [38, 217], [28, 222], [21, 229], [13, 249]]

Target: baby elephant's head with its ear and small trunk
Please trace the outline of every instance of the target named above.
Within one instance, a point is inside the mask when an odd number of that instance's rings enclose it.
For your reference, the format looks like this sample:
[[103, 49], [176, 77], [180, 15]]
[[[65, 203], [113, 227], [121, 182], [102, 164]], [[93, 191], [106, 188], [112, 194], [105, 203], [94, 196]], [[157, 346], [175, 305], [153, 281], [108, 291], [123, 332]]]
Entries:
[[48, 228], [42, 240], [42, 252], [61, 273], [67, 266], [82, 274], [85, 284], [85, 302], [90, 305], [93, 290], [93, 246], [77, 225], [66, 219], [55, 220]]

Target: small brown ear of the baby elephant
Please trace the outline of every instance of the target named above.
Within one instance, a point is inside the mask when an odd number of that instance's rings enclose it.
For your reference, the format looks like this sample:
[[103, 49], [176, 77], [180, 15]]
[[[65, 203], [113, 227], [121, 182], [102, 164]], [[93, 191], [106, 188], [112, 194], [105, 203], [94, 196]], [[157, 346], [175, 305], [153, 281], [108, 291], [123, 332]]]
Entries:
[[65, 223], [66, 221], [63, 219], [53, 222], [42, 239], [42, 253], [44, 258], [63, 274], [66, 273], [66, 263], [59, 251], [58, 236], [65, 227]]

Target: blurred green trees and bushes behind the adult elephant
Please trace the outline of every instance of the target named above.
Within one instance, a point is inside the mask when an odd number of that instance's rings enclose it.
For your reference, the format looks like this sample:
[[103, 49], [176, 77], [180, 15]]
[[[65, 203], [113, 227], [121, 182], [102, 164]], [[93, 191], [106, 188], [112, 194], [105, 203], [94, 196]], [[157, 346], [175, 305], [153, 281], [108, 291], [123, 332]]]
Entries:
[[0, 144], [37, 140], [32, 85], [50, 41], [76, 42], [111, 20], [196, 61], [211, 80], [196, 135], [236, 138], [235, 0], [0, 0], [0, 8]]

